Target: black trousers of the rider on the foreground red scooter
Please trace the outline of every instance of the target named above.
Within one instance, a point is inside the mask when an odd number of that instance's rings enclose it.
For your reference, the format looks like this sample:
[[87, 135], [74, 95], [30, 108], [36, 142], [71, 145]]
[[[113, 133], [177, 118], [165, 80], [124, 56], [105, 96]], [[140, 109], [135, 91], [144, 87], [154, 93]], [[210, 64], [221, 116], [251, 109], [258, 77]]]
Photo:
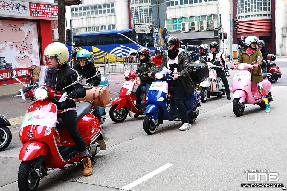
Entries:
[[78, 114], [76, 110], [69, 110], [64, 113], [59, 113], [57, 114], [57, 117], [61, 117], [63, 119], [64, 125], [67, 127], [71, 138], [77, 145], [78, 151], [86, 151], [86, 143], [78, 131]]

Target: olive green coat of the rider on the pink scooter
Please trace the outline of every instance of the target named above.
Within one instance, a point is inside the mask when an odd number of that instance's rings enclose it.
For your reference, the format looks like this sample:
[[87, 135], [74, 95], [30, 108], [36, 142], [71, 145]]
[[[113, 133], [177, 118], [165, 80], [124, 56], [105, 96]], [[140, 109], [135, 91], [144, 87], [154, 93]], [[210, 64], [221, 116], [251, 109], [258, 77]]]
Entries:
[[[258, 56], [261, 56], [262, 61], [254, 62], [257, 60]], [[251, 64], [252, 62], [254, 62], [254, 63]], [[238, 65], [240, 63], [247, 63], [247, 64], [251, 64], [251, 65], [260, 64], [260, 66], [261, 66], [263, 63], [263, 57], [262, 57], [261, 51], [256, 49], [249, 56], [249, 54], [246, 53], [246, 50], [242, 50], [240, 55], [239, 55], [238, 62], [236, 63], [236, 65]], [[251, 73], [251, 79], [252, 79], [254, 84], [257, 84], [258, 82], [263, 81], [260, 67], [254, 68], [254, 69], [248, 69], [248, 71]]]

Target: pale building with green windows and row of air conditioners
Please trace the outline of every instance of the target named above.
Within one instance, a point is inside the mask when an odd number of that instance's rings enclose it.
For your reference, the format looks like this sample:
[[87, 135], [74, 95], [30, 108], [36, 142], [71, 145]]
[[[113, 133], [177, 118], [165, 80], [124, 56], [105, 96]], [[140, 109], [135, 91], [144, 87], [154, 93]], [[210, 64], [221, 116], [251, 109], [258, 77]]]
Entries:
[[209, 45], [217, 41], [220, 50], [230, 54], [229, 38], [220, 41], [219, 32], [230, 36], [232, 0], [167, 0], [166, 6], [167, 33], [177, 36], [184, 44]]

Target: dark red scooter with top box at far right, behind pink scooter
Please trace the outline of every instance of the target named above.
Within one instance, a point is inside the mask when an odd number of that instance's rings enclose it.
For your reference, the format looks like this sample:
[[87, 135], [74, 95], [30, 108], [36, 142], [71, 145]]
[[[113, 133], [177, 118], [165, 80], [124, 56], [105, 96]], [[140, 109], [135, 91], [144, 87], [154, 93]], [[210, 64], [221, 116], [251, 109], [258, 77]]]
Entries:
[[268, 80], [271, 83], [277, 82], [278, 78], [281, 78], [281, 72], [279, 70], [279, 66], [276, 66], [274, 60], [276, 60], [276, 56], [274, 54], [268, 54], [267, 60], [270, 62], [267, 63], [267, 74], [271, 74]]

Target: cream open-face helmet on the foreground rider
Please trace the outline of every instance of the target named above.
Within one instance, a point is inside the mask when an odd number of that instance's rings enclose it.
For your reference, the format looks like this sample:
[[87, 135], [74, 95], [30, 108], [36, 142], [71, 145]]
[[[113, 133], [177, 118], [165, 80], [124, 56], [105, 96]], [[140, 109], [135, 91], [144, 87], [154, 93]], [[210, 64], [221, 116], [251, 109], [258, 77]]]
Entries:
[[60, 42], [53, 42], [49, 44], [43, 55], [43, 62], [47, 66], [48, 60], [51, 56], [55, 56], [57, 64], [65, 64], [69, 59], [69, 50], [65, 44]]

